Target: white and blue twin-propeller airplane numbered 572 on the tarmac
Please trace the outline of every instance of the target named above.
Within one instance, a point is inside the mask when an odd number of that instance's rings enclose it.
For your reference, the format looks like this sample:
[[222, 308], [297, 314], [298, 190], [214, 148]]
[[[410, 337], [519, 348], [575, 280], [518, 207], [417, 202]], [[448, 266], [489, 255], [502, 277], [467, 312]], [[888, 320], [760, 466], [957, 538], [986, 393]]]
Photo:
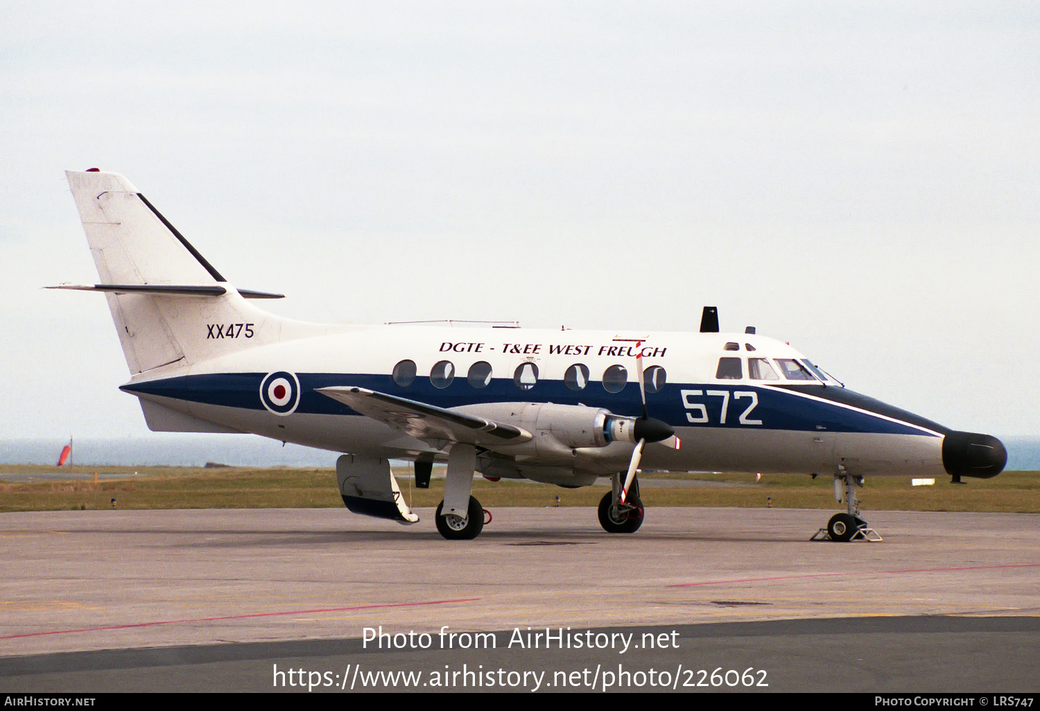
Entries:
[[484, 528], [474, 474], [564, 488], [609, 478], [600, 525], [632, 533], [643, 467], [799, 473], [834, 478], [846, 510], [825, 537], [848, 542], [873, 532], [855, 491], [866, 476], [959, 481], [1007, 464], [994, 437], [853, 392], [751, 326], [720, 333], [714, 307], [699, 333], [283, 318], [252, 304], [282, 294], [229, 284], [123, 176], [67, 176], [100, 283], [49, 288], [105, 294], [130, 369], [121, 390], [148, 426], [340, 452], [337, 483], [355, 514], [419, 520], [390, 459], [413, 462], [422, 489], [446, 463], [435, 522], [448, 539]]

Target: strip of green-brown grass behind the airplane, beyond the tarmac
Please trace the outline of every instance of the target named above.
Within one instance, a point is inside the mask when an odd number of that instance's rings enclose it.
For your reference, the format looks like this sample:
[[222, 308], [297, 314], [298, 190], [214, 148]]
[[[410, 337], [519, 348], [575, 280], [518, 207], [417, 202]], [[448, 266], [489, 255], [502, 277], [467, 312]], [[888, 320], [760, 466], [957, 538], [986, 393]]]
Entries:
[[[341, 507], [336, 474], [331, 469], [252, 469], [178, 467], [77, 467], [77, 476], [52, 478], [53, 467], [0, 466], [0, 511], [70, 509], [164, 508], [322, 508]], [[90, 474], [102, 475], [93, 483]], [[412, 507], [436, 506], [444, 479], [431, 489], [415, 489], [408, 468], [395, 468], [405, 500]], [[47, 476], [46, 480], [14, 480], [15, 475]], [[4, 477], [8, 478], [5, 479]], [[830, 477], [805, 475], [669, 474], [644, 475], [642, 499], [647, 506], [735, 506], [778, 508], [841, 508], [834, 501]], [[694, 481], [698, 485], [654, 485], [653, 479]], [[912, 486], [909, 478], [873, 477], [857, 490], [866, 510], [1040, 512], [1040, 476], [1036, 472], [1004, 472], [992, 479], [965, 479], [951, 484], [948, 477], [933, 486]], [[485, 507], [595, 506], [606, 491], [602, 485], [563, 489], [529, 481], [473, 480], [473, 495]], [[558, 500], [557, 500], [558, 497]], [[114, 499], [114, 503], [113, 500]]]

